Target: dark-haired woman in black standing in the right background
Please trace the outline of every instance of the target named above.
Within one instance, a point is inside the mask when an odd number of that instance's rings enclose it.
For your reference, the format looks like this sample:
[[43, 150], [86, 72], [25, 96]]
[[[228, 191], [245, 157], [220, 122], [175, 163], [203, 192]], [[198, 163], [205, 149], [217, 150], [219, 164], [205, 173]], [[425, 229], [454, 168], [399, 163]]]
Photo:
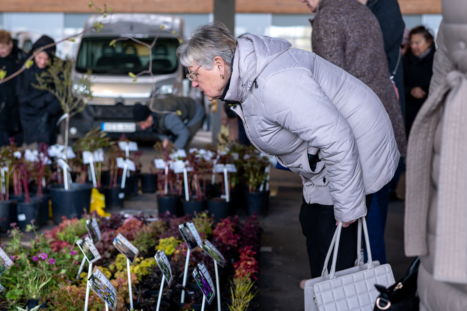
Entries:
[[428, 97], [435, 54], [433, 36], [425, 27], [410, 30], [409, 40], [410, 50], [403, 60], [407, 137], [417, 112]]

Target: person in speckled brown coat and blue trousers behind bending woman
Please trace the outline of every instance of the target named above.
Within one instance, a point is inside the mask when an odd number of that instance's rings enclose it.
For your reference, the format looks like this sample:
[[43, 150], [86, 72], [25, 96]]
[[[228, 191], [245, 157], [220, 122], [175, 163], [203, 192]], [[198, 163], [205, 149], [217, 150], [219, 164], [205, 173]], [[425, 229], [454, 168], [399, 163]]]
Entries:
[[[316, 13], [311, 26], [313, 52], [367, 84], [388, 112], [401, 158], [407, 140], [396, 91], [389, 79], [388, 60], [375, 15], [357, 0], [301, 0]], [[384, 228], [389, 185], [373, 196], [368, 211], [368, 234], [373, 260], [386, 263]]]

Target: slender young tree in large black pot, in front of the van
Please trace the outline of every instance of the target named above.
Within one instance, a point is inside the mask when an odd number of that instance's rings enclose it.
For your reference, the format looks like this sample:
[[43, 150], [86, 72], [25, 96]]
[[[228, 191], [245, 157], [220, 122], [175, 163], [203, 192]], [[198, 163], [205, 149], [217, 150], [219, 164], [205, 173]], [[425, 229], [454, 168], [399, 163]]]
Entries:
[[[47, 70], [39, 76], [36, 74], [37, 84], [33, 86], [38, 90], [47, 90], [57, 97], [64, 111], [64, 160], [68, 162], [68, 133], [70, 118], [83, 111], [91, 95], [91, 72], [83, 75], [78, 81], [72, 76], [74, 60], [65, 58], [61, 60], [54, 57]], [[64, 178], [67, 178], [64, 176]], [[89, 211], [91, 201], [92, 185], [71, 183], [69, 189], [65, 190], [63, 185], [50, 187], [52, 200], [52, 213], [54, 222], [60, 223], [62, 216], [68, 218], [80, 217], [83, 209]]]

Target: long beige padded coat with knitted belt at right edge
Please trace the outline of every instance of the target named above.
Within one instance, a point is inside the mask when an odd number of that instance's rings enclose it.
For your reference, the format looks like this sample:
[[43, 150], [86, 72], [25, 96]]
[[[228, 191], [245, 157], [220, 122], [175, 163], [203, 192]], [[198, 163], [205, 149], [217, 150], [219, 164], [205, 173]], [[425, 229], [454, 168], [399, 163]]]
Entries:
[[430, 95], [407, 148], [404, 246], [421, 311], [467, 310], [467, 2], [443, 0]]

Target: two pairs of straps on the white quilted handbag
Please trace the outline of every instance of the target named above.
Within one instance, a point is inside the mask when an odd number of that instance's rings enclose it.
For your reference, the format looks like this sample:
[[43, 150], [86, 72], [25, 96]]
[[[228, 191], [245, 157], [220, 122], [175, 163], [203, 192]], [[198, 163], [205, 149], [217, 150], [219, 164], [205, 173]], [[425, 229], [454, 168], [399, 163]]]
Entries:
[[[367, 228], [367, 221], [365, 220], [365, 216], [361, 217], [358, 223], [358, 240], [357, 240], [357, 247], [359, 246], [359, 240], [361, 241], [361, 226], [363, 227], [363, 234], [365, 235], [365, 243], [367, 246], [367, 253], [368, 253], [368, 262], [367, 262], [367, 269], [371, 269], [374, 267], [373, 264], [373, 258], [371, 256], [371, 248], [370, 248], [370, 242], [369, 242], [369, 237], [368, 237], [368, 228]], [[342, 231], [342, 221], [339, 221], [337, 224], [336, 231], [334, 232], [333, 240], [331, 241], [331, 245], [329, 246], [329, 250], [326, 255], [325, 259], [325, 264], [323, 267], [323, 272], [321, 276], [324, 276], [327, 274], [327, 264], [329, 262], [329, 257], [331, 256], [331, 251], [334, 247], [334, 254], [333, 254], [333, 263], [331, 264], [331, 273], [329, 278], [333, 279], [336, 278], [336, 262], [337, 262], [337, 253], [339, 251], [339, 242], [340, 242], [340, 233]], [[359, 263], [362, 261], [361, 259], [361, 254], [360, 254], [360, 249], [357, 250], [357, 258]]]

